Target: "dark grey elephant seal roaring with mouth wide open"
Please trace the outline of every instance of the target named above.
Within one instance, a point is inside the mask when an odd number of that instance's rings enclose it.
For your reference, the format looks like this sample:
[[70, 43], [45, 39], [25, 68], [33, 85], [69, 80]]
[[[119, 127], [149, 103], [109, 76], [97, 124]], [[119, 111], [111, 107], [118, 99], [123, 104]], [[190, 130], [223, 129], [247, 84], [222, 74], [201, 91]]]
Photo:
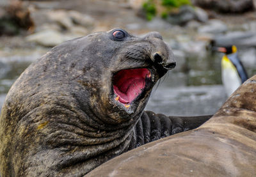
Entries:
[[196, 128], [210, 116], [143, 111], [176, 65], [157, 32], [124, 29], [51, 49], [13, 84], [1, 111], [1, 176], [83, 176], [125, 151]]

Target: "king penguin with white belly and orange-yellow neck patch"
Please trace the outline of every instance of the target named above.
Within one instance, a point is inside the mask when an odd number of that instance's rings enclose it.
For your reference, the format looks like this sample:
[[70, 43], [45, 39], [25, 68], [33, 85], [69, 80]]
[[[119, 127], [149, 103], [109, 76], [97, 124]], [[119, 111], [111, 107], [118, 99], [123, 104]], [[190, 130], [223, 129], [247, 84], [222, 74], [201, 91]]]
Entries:
[[243, 63], [241, 63], [238, 57], [237, 47], [235, 45], [230, 47], [217, 47], [217, 50], [225, 53], [221, 59], [221, 80], [227, 95], [230, 96], [248, 79], [248, 75], [244, 69]]

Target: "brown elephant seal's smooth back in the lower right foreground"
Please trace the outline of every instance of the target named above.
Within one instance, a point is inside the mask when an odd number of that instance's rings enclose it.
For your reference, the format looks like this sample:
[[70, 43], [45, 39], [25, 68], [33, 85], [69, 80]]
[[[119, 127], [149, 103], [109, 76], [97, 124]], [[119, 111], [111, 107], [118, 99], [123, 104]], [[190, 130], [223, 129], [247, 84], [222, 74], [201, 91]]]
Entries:
[[86, 176], [256, 176], [256, 75], [199, 128], [145, 144]]

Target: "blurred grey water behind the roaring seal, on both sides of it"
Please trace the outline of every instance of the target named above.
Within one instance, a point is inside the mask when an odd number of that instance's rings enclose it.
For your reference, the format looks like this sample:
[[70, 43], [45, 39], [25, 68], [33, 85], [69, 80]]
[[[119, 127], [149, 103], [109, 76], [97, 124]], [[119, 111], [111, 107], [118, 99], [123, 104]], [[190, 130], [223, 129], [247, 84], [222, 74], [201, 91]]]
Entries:
[[[13, 82], [31, 62], [42, 53], [0, 58], [0, 106]], [[168, 73], [154, 88], [146, 109], [157, 113], [179, 116], [214, 114], [227, 96], [221, 85], [220, 54], [207, 54], [204, 58], [190, 56], [177, 60], [178, 69]], [[254, 67], [246, 68], [249, 75]]]

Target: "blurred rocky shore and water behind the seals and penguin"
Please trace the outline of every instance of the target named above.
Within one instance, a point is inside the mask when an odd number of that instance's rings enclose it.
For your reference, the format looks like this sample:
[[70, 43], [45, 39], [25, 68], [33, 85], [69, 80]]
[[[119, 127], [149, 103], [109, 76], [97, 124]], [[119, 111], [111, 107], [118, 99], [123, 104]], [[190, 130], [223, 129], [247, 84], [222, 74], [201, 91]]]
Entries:
[[168, 115], [218, 111], [227, 99], [218, 46], [236, 45], [256, 73], [255, 0], [0, 0], [0, 107], [28, 65], [66, 40], [122, 27], [158, 31], [177, 67], [159, 82], [147, 110]]

